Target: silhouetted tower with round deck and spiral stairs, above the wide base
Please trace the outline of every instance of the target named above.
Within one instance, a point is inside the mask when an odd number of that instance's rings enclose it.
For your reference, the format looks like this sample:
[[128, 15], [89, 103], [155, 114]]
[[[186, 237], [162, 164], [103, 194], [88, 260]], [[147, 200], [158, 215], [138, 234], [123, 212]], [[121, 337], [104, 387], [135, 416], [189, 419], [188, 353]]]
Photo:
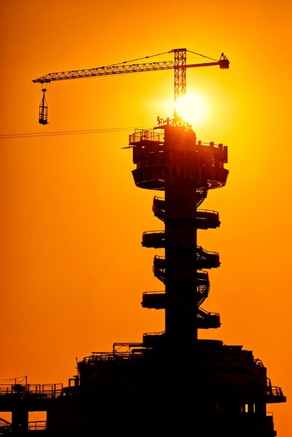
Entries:
[[[147, 345], [163, 348], [180, 344], [192, 351], [199, 328], [219, 327], [219, 314], [204, 311], [210, 281], [205, 269], [219, 267], [219, 254], [197, 244], [197, 230], [217, 228], [219, 214], [198, 209], [212, 188], [226, 184], [227, 147], [202, 144], [189, 126], [173, 126], [169, 120], [161, 132], [138, 131], [131, 135], [133, 177], [136, 186], [164, 191], [154, 197], [153, 212], [164, 223], [163, 231], [144, 232], [143, 246], [163, 248], [154, 257], [154, 275], [164, 292], [145, 292], [143, 306], [165, 309], [163, 334], [147, 336]], [[161, 347], [160, 346], [160, 347]]]

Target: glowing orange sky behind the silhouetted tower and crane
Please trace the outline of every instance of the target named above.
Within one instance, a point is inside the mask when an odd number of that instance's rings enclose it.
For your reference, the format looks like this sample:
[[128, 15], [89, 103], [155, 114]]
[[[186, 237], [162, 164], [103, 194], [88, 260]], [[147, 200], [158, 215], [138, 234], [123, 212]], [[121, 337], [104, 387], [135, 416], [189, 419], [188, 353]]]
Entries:
[[[31, 80], [173, 48], [224, 52], [228, 71], [187, 71], [187, 90], [208, 102], [197, 137], [228, 146], [230, 171], [202, 205], [221, 219], [219, 229], [198, 231], [199, 244], [220, 254], [203, 308], [220, 313], [221, 328], [200, 338], [240, 344], [263, 361], [287, 397], [268, 406], [277, 436], [290, 437], [292, 4], [201, 3], [0, 3], [0, 379], [66, 384], [75, 357], [164, 327], [163, 311], [140, 306], [143, 291], [163, 289], [152, 274], [158, 251], [142, 248], [142, 233], [163, 227], [122, 147], [133, 128], [172, 117], [173, 71], [52, 82], [47, 126]], [[24, 137], [104, 128], [128, 130]]]

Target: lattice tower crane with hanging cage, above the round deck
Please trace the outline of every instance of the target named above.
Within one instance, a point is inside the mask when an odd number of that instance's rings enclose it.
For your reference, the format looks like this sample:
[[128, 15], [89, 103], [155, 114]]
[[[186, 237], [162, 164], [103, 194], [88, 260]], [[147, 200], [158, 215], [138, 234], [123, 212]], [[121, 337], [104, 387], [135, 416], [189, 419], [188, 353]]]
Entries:
[[[102, 66], [98, 68], [88, 68], [85, 70], [73, 70], [73, 71], [61, 71], [59, 73], [48, 73], [37, 79], [34, 79], [32, 82], [47, 84], [50, 82], [54, 82], [56, 80], [68, 80], [68, 79], [79, 79], [81, 77], [96, 77], [96, 76], [105, 76], [105, 75], [116, 75], [116, 74], [124, 74], [124, 73], [140, 73], [143, 71], [157, 71], [157, 70], [171, 70], [175, 71], [175, 105], [174, 105], [174, 119], [173, 124], [180, 126], [184, 124], [184, 121], [180, 119], [176, 110], [176, 102], [177, 100], [186, 94], [186, 70], [187, 68], [192, 67], [206, 67], [206, 66], [219, 66], [219, 68], [229, 68], [229, 61], [224, 55], [221, 54], [219, 60], [212, 59], [210, 57], [206, 57], [205, 55], [200, 54], [200, 56], [210, 59], [210, 62], [203, 62], [200, 64], [187, 64], [187, 52], [198, 54], [195, 52], [191, 52], [185, 48], [173, 49], [169, 52], [161, 53], [174, 53], [175, 59], [174, 61], [161, 61], [161, 62], [150, 62], [147, 64], [129, 64], [132, 61], [124, 61], [119, 64], [112, 64], [109, 66]], [[158, 55], [152, 55], [152, 57]], [[147, 59], [148, 57], [140, 58]], [[138, 59], [136, 59], [138, 60]], [[45, 86], [42, 89], [43, 98], [41, 100], [41, 104], [39, 106], [39, 117], [38, 121], [40, 124], [48, 124], [48, 105], [45, 100], [45, 91], [47, 89]]]

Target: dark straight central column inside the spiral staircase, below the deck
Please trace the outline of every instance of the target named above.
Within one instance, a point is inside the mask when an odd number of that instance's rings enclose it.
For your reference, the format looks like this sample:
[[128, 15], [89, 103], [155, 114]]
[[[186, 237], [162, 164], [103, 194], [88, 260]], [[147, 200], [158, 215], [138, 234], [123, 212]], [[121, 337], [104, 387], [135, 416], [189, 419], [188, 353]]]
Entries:
[[165, 188], [166, 336], [189, 348], [197, 339], [196, 184], [168, 179]]

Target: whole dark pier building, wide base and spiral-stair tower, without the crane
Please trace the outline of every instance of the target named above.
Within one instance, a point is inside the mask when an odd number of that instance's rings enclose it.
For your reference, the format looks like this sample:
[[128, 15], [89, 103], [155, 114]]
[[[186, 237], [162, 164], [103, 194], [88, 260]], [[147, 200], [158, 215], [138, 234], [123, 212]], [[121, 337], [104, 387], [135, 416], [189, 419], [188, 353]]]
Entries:
[[[7, 385], [0, 410], [12, 420], [0, 434], [276, 436], [267, 405], [286, 397], [261, 360], [242, 346], [198, 339], [198, 329], [220, 327], [219, 314], [202, 308], [219, 253], [201, 247], [197, 232], [220, 225], [219, 213], [201, 205], [226, 185], [227, 147], [198, 141], [176, 118], [137, 129], [129, 147], [136, 186], [160, 193], [152, 211], [163, 230], [144, 232], [142, 244], [164, 251], [153, 261], [163, 290], [144, 292], [142, 306], [164, 311], [165, 329], [83, 358], [67, 387]], [[43, 429], [29, 424], [32, 410], [47, 412]]]

